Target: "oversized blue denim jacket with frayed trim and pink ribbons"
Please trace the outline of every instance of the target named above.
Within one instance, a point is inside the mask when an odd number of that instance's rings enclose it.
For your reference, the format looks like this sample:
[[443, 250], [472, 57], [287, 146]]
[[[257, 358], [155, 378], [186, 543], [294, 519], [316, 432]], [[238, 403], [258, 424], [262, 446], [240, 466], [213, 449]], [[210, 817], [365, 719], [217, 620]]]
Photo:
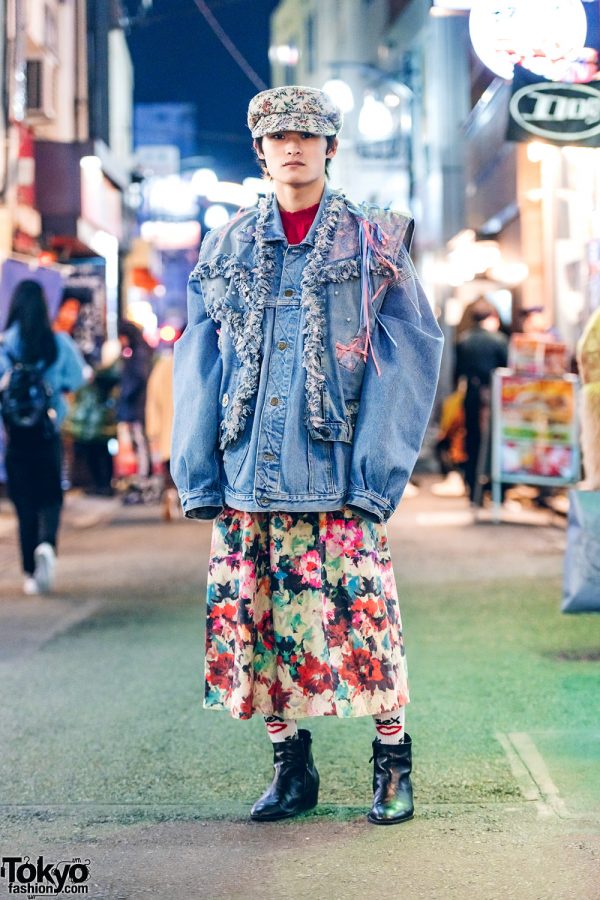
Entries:
[[274, 195], [209, 232], [175, 346], [171, 468], [188, 517], [226, 504], [389, 518], [442, 350], [411, 233], [405, 216], [327, 188], [301, 244]]

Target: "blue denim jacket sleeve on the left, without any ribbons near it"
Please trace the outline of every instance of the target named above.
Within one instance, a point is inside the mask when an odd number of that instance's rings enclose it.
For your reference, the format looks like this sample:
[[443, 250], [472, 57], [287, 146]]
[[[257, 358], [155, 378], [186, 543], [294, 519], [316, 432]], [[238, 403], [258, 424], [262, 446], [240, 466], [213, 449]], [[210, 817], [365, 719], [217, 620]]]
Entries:
[[188, 282], [188, 324], [175, 344], [171, 472], [184, 512], [212, 519], [223, 508], [218, 448], [222, 361], [217, 326], [206, 313], [200, 278]]

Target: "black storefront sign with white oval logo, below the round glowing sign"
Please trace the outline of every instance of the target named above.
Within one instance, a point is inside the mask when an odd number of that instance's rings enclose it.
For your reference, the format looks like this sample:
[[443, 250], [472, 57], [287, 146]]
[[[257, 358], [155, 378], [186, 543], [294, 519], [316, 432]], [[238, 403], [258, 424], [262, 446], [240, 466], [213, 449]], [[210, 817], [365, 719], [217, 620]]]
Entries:
[[600, 146], [600, 82], [546, 81], [515, 67], [509, 141], [542, 139], [561, 146]]

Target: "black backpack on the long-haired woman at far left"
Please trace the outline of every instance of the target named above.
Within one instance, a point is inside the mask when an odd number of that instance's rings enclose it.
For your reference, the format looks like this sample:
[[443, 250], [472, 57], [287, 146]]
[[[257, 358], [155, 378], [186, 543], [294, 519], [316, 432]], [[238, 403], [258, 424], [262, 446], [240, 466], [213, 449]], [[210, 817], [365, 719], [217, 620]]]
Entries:
[[5, 348], [12, 368], [0, 381], [0, 412], [7, 431], [31, 429], [49, 434], [53, 430], [48, 415], [52, 388], [44, 381], [43, 360], [24, 363]]

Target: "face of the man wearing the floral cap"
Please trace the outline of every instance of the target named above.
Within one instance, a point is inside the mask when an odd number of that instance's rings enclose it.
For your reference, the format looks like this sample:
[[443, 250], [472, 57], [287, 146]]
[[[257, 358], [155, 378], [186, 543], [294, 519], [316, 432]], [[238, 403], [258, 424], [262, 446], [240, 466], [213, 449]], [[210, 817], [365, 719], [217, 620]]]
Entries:
[[307, 187], [325, 176], [325, 160], [335, 156], [337, 141], [330, 150], [323, 135], [302, 131], [266, 134], [262, 154], [269, 175], [275, 183], [290, 187]]

